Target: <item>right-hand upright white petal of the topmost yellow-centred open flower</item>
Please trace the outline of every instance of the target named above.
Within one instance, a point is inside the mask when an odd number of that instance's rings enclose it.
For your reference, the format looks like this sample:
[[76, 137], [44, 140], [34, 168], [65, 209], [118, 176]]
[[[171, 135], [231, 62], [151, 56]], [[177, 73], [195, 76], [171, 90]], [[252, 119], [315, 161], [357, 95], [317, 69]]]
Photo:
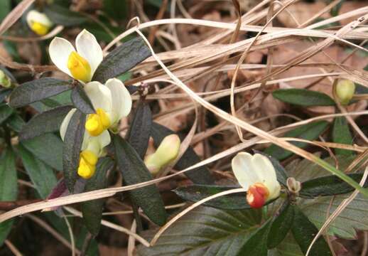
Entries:
[[77, 52], [90, 63], [93, 76], [94, 71], [96, 71], [104, 57], [101, 46], [99, 46], [92, 33], [85, 29], [78, 34], [75, 40], [75, 46], [77, 47]]

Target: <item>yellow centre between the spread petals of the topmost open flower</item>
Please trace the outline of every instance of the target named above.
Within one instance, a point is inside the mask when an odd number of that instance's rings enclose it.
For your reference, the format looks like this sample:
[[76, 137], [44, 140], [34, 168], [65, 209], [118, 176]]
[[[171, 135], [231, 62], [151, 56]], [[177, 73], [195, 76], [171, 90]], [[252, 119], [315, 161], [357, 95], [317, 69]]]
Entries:
[[91, 80], [91, 66], [85, 58], [73, 51], [67, 59], [67, 68], [70, 70], [72, 77], [83, 82]]

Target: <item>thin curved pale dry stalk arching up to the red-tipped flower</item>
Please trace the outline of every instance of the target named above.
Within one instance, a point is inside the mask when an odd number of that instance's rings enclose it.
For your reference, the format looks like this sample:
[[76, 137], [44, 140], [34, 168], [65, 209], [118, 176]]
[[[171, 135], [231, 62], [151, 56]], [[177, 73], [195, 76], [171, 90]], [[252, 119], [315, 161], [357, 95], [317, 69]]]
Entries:
[[[193, 205], [191, 205], [188, 208], [186, 208], [185, 210], [181, 211], [180, 213], [178, 213], [178, 215], [175, 215], [174, 218], [169, 220], [168, 223], [163, 225], [163, 227], [161, 227], [160, 230], [158, 230], [158, 232], [156, 233], [156, 235], [152, 238], [150, 245], [151, 246], [155, 245], [158, 238], [160, 238], [160, 236], [162, 235], [162, 233], [165, 232], [165, 230], [167, 230], [171, 225], [173, 225], [173, 223], [175, 223], [176, 220], [183, 217], [183, 215], [185, 215], [186, 213], [190, 212], [190, 210], [193, 210], [197, 206], [200, 206], [202, 203], [210, 201], [214, 198], [218, 198], [220, 196], [226, 196], [226, 195], [229, 195], [229, 194], [232, 194], [232, 193], [240, 193], [240, 192], [247, 192], [247, 191], [244, 188], [234, 188], [234, 189], [230, 189], [228, 191], [222, 191], [220, 193], [216, 193], [215, 195], [208, 196], [207, 198], [203, 198], [202, 200], [193, 203]], [[245, 200], [245, 198], [244, 198], [244, 200]]]

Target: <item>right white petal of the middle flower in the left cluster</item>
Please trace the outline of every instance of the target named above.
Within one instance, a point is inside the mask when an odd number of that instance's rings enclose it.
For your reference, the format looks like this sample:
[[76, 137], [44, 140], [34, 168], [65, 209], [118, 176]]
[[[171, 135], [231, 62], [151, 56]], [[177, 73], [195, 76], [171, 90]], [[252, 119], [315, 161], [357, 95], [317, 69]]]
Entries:
[[119, 122], [121, 117], [126, 117], [131, 111], [131, 95], [124, 83], [117, 78], [107, 80], [106, 86], [112, 94], [113, 123]]

